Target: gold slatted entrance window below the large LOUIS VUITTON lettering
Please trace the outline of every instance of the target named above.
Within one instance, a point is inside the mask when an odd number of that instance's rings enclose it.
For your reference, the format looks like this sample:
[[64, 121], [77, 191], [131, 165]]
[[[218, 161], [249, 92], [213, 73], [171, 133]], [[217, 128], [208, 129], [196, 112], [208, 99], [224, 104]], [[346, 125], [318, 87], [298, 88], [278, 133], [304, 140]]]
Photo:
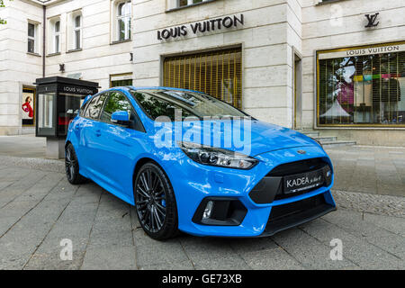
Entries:
[[163, 85], [211, 94], [242, 108], [241, 49], [170, 57], [164, 61]]

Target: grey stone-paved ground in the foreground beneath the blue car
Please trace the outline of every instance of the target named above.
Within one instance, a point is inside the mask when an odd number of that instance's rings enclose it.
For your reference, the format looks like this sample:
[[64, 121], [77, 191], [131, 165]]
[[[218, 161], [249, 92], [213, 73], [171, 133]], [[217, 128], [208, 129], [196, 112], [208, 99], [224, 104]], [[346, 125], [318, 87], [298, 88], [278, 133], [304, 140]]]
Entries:
[[[335, 195], [338, 211], [271, 238], [157, 242], [129, 204], [68, 184], [63, 162], [0, 157], [0, 269], [404, 269], [404, 198]], [[64, 238], [71, 261], [60, 259]], [[334, 238], [342, 261], [329, 257]]]

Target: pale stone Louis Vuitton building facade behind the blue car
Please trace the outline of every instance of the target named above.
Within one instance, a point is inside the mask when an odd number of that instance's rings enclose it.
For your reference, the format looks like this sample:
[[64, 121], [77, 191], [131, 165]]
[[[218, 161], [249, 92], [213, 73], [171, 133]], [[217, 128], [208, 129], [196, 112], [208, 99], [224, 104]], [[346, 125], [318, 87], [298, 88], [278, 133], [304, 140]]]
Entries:
[[404, 13], [401, 0], [6, 2], [0, 134], [31, 131], [35, 78], [69, 76], [199, 90], [288, 128], [405, 146]]

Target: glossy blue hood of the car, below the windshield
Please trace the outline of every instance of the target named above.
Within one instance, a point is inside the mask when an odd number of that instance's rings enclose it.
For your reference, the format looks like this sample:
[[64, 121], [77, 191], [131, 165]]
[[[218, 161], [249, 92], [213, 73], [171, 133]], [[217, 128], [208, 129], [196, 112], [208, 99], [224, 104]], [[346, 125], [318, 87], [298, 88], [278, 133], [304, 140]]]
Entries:
[[[170, 130], [167, 124], [160, 129]], [[249, 156], [284, 148], [319, 146], [315, 140], [295, 130], [257, 120], [184, 121], [181, 124], [171, 123], [171, 129], [183, 132], [182, 138], [172, 135], [173, 139], [224, 148]], [[160, 131], [159, 137], [163, 133]]]

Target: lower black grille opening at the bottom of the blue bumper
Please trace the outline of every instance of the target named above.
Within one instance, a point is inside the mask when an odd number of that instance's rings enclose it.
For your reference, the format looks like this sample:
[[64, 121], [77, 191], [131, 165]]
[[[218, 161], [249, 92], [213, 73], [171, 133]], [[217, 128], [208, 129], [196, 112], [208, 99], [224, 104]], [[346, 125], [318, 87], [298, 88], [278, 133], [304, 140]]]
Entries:
[[301, 201], [275, 206], [272, 208], [267, 225], [279, 220], [284, 220], [286, 218], [292, 217], [294, 214], [299, 214], [302, 211], [308, 211], [310, 209], [316, 208], [325, 203], [325, 197], [323, 196], [323, 194], [320, 194], [311, 198], [303, 199]]

